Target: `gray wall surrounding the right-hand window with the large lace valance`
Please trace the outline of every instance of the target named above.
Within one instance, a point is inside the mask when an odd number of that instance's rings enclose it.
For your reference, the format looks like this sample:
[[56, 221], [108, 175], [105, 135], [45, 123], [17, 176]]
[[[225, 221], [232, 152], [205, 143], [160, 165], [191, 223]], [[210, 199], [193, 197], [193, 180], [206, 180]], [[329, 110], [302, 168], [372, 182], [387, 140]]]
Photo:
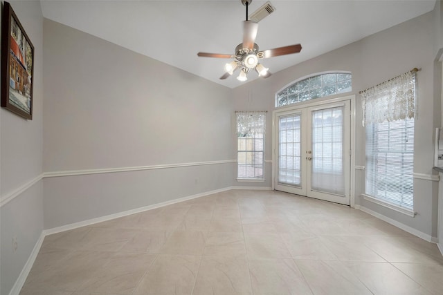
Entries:
[[[415, 120], [414, 172], [427, 175], [433, 174], [433, 133], [437, 127], [434, 116], [438, 115], [433, 112], [435, 45], [433, 34], [430, 33], [433, 28], [430, 12], [373, 35], [364, 40], [365, 55], [370, 58], [363, 59], [363, 79], [368, 83], [367, 86], [378, 83], [378, 71], [383, 81], [394, 76], [395, 71], [403, 73], [410, 68], [422, 68], [417, 73], [418, 117]], [[414, 194], [414, 210], [417, 211], [415, 218], [365, 200], [361, 200], [361, 204], [425, 234], [437, 236], [437, 206], [434, 205], [437, 204], [437, 183], [415, 179]]]

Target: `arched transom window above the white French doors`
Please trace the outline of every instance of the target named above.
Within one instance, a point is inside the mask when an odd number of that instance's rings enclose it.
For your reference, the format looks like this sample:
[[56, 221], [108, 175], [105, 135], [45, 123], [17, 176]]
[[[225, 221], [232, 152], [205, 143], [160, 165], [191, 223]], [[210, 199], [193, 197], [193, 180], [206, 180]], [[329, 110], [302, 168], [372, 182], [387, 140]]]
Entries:
[[275, 106], [286, 106], [305, 102], [309, 99], [325, 97], [352, 91], [351, 73], [325, 73], [297, 81], [275, 97]]

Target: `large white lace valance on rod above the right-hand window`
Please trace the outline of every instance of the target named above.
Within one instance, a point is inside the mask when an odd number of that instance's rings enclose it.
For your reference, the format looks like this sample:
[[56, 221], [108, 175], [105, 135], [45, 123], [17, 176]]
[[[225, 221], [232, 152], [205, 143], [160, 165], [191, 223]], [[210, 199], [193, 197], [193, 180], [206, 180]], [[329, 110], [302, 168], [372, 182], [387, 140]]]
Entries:
[[415, 71], [362, 91], [363, 126], [413, 118], [415, 97]]

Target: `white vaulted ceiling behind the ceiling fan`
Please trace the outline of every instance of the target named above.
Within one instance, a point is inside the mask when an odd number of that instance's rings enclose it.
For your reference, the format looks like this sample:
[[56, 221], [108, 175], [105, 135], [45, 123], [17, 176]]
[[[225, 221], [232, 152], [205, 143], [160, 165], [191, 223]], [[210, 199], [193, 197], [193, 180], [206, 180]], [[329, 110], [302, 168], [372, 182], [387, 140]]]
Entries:
[[[253, 0], [251, 15], [266, 1]], [[158, 59], [221, 85], [229, 59], [197, 52], [233, 54], [242, 43], [246, 11], [240, 0], [69, 1], [42, 0], [44, 17]], [[435, 0], [271, 0], [275, 11], [260, 21], [260, 50], [302, 44], [298, 54], [260, 61], [272, 73], [433, 10]], [[259, 79], [248, 74], [248, 82]], [[261, 78], [260, 78], [261, 79]]]

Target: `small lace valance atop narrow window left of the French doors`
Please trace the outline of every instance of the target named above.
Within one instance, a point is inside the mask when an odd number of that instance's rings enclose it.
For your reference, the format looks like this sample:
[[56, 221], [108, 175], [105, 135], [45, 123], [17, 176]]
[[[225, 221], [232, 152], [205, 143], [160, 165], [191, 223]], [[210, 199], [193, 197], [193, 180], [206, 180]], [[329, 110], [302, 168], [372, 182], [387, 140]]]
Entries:
[[266, 111], [237, 111], [237, 136], [261, 135], [266, 130]]

